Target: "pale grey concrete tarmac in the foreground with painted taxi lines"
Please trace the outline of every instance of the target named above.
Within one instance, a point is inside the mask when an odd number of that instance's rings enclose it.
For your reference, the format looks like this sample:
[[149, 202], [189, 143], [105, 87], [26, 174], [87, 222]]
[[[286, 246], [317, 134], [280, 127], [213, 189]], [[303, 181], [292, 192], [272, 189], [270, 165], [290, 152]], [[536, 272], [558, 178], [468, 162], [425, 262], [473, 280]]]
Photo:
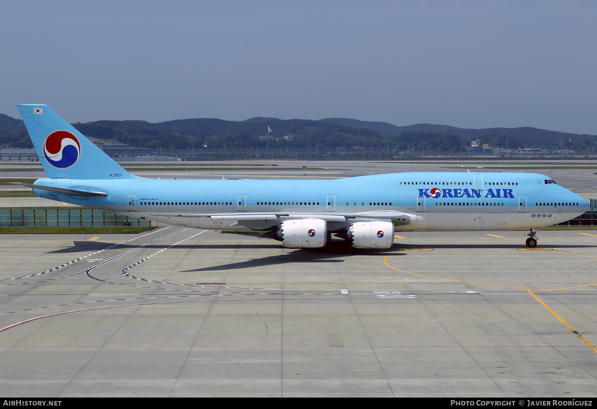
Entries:
[[596, 396], [593, 233], [0, 236], [0, 393]]

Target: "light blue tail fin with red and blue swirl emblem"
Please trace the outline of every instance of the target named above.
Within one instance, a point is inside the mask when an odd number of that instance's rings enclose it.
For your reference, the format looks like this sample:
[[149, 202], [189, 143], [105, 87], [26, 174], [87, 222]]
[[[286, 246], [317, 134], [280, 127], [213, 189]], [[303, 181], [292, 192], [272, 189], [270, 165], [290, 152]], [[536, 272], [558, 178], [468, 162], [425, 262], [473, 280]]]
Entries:
[[47, 177], [131, 179], [113, 161], [47, 105], [17, 105]]

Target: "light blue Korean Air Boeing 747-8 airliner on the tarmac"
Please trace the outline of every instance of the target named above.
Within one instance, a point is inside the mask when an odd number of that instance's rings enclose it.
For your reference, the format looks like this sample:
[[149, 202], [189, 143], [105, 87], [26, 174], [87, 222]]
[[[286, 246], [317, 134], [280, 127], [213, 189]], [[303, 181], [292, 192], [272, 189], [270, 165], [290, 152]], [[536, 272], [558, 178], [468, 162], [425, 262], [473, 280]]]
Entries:
[[46, 105], [19, 105], [46, 178], [36, 195], [198, 229], [267, 230], [290, 248], [331, 234], [356, 248], [390, 248], [413, 230], [536, 229], [589, 203], [531, 173], [393, 173], [337, 180], [155, 180], [128, 173]]

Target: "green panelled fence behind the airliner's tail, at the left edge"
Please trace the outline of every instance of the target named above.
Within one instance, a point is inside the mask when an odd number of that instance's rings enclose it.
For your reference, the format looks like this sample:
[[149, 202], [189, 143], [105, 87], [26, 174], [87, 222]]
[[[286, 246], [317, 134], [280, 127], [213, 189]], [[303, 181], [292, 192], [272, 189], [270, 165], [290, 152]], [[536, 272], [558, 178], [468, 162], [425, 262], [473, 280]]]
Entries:
[[86, 208], [0, 209], [0, 227], [115, 226], [150, 226], [150, 221], [110, 211]]

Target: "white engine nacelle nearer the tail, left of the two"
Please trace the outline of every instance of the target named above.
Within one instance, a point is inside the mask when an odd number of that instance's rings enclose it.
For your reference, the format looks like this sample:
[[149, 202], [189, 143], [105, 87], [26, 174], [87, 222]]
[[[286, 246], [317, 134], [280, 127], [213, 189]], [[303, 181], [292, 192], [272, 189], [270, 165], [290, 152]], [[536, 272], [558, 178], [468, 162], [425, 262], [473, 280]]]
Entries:
[[328, 225], [321, 219], [293, 219], [280, 224], [278, 240], [284, 247], [324, 247], [328, 236]]

